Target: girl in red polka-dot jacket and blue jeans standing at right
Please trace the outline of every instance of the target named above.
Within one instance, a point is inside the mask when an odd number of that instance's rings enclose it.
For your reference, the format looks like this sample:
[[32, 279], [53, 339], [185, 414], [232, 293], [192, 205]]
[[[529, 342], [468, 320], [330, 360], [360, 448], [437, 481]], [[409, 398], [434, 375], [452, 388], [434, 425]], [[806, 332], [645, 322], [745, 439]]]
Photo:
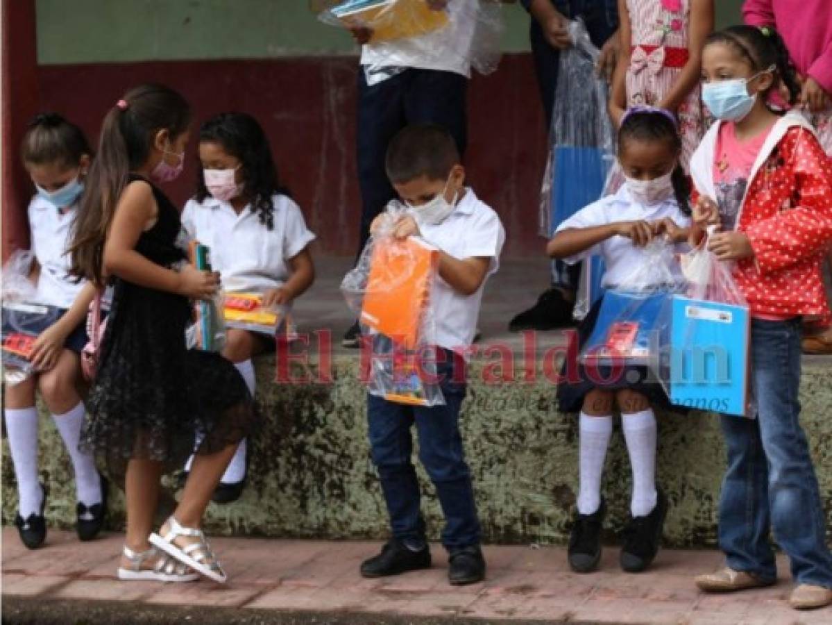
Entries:
[[[800, 322], [828, 315], [820, 267], [832, 241], [832, 161], [799, 113], [766, 96], [800, 93], [771, 28], [713, 33], [702, 52], [702, 100], [718, 120], [691, 157], [691, 244], [734, 263], [751, 312], [750, 379], [756, 419], [723, 415], [728, 469], [719, 540], [726, 568], [701, 575], [706, 591], [775, 583], [770, 527], [797, 584], [790, 603], [832, 603], [832, 555], [805, 434], [800, 427]], [[705, 238], [706, 226], [719, 231]]]

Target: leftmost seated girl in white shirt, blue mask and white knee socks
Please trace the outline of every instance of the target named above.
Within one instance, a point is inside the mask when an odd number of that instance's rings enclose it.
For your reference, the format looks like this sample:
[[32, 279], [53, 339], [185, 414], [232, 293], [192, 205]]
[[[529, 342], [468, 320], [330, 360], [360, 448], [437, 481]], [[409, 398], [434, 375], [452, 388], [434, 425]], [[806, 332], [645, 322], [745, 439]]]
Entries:
[[37, 187], [28, 210], [35, 302], [62, 310], [60, 318], [44, 325], [35, 341], [32, 362], [37, 374], [6, 388], [6, 430], [17, 479], [15, 525], [28, 548], [39, 547], [47, 533], [43, 516], [47, 492], [37, 474], [36, 389], [72, 459], [78, 538], [95, 538], [106, 516], [106, 480], [98, 474], [92, 455], [78, 449], [85, 409], [76, 383], [81, 375], [79, 355], [87, 345], [85, 322], [94, 290], [68, 274], [67, 254], [91, 156], [81, 129], [53, 113], [37, 116], [23, 137], [23, 164]]

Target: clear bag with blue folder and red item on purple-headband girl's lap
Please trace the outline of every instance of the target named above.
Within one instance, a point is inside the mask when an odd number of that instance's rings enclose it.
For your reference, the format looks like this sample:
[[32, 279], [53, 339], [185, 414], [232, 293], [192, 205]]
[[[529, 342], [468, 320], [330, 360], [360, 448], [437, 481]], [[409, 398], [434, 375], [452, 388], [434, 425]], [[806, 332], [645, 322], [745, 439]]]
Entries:
[[685, 291], [674, 247], [657, 237], [646, 260], [626, 282], [604, 292], [596, 324], [583, 345], [584, 365], [646, 366], [661, 373], [661, 350], [669, 341], [673, 295]]

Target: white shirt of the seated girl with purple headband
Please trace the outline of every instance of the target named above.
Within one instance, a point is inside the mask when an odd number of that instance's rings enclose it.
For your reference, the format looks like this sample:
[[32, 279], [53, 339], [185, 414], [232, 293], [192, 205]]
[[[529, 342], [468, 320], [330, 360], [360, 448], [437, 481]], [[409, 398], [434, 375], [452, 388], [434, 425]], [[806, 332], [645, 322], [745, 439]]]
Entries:
[[[691, 225], [691, 218], [681, 211], [674, 196], [653, 206], [642, 206], [631, 198], [626, 185], [622, 185], [612, 196], [602, 197], [589, 206], [584, 206], [557, 226], [556, 232], [569, 228], [606, 226], [615, 221], [658, 221], [664, 217], [670, 217], [677, 226], [683, 228]], [[688, 249], [686, 243], [676, 245], [676, 251]], [[563, 260], [569, 265], [574, 265], [592, 255], [602, 255], [604, 264], [607, 265], [601, 282], [605, 288], [621, 284], [634, 269], [643, 266], [648, 261], [645, 250], [633, 246], [632, 241], [626, 236], [611, 236], [606, 241], [601, 241], [588, 250], [583, 250]], [[681, 269], [678, 263], [674, 263], [673, 271], [676, 277], [681, 279]]]

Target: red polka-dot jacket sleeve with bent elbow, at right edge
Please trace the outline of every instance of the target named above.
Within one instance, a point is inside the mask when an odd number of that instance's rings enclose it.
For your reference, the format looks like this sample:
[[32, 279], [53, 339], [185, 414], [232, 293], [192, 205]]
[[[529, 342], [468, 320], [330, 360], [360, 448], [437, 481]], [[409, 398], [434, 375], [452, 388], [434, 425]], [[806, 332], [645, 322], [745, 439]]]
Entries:
[[764, 275], [795, 265], [832, 241], [832, 161], [810, 131], [795, 132], [790, 165], [800, 206], [745, 228]]

